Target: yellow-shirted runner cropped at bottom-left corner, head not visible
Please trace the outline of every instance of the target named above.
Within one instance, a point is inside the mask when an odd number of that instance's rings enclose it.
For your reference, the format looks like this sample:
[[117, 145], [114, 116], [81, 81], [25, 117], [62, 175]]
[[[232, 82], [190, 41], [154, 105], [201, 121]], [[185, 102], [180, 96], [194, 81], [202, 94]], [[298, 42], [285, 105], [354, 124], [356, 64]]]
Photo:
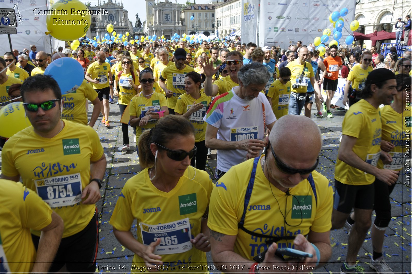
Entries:
[[[0, 269], [2, 273], [45, 273], [56, 255], [63, 220], [20, 182], [0, 180]], [[30, 229], [44, 231], [38, 253]], [[44, 263], [50, 262], [50, 263]]]

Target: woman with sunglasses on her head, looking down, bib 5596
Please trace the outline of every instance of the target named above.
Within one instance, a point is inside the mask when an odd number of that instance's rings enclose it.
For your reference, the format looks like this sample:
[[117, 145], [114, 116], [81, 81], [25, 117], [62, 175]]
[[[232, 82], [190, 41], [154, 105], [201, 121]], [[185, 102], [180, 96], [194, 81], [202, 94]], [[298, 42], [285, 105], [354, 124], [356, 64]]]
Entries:
[[197, 155], [192, 158], [191, 165], [200, 170], [206, 170], [206, 158], [208, 149], [205, 145], [206, 122], [203, 120], [206, 116], [208, 105], [211, 97], [206, 96], [201, 91], [203, 79], [196, 71], [191, 71], [185, 76], [186, 93], [180, 95], [176, 102], [176, 115], [182, 115], [188, 119], [196, 129], [195, 146]]

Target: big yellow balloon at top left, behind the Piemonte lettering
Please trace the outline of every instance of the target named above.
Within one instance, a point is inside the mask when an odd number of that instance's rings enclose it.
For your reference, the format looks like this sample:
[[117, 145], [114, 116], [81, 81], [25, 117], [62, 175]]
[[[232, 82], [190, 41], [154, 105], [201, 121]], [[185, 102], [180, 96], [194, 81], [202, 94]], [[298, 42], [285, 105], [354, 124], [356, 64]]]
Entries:
[[[89, 9], [79, 0], [56, 2], [52, 6], [52, 10], [62, 11], [63, 15], [61, 15], [61, 12], [59, 12], [59, 15], [47, 15], [46, 35], [50, 34], [57, 40], [70, 41], [82, 37], [87, 33], [87, 30], [89, 30], [91, 16], [90, 14], [83, 14], [84, 11], [88, 11]], [[65, 12], [67, 12], [68, 15], [64, 15]]]

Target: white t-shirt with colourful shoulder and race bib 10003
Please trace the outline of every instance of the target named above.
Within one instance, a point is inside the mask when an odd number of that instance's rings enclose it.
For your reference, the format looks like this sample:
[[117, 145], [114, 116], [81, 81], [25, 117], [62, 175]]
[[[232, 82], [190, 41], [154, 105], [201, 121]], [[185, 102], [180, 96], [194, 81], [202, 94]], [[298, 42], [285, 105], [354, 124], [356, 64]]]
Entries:
[[[250, 101], [241, 99], [231, 91], [222, 94], [213, 101], [203, 118], [209, 125], [218, 128], [218, 139], [223, 141], [241, 141], [244, 139], [263, 139], [265, 125], [276, 121], [265, 94], [259, 93]], [[227, 172], [232, 166], [245, 161], [247, 151], [218, 150], [218, 170]]]

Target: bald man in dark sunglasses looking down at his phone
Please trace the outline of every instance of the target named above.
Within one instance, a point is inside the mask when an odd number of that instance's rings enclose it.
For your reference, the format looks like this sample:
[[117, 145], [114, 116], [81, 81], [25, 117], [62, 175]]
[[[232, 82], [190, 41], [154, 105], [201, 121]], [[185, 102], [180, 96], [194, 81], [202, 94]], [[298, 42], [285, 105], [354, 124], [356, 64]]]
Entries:
[[[260, 273], [274, 265], [283, 272], [305, 273], [331, 256], [332, 187], [315, 171], [321, 131], [310, 118], [286, 115], [272, 132], [265, 156], [233, 166], [213, 189], [208, 227], [212, 257], [220, 269], [242, 262], [245, 269]], [[308, 138], [295, 138], [301, 135]], [[313, 257], [298, 262], [299, 268], [297, 263], [288, 266], [275, 254], [278, 248]]]

